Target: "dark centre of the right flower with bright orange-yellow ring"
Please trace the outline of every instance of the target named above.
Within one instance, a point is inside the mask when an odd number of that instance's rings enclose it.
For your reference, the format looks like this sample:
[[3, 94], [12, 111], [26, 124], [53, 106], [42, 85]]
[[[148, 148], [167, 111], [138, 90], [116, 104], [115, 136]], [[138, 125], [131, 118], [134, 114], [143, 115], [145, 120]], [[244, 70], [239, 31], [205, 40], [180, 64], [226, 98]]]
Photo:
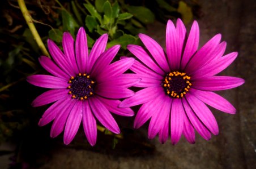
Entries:
[[190, 77], [186, 73], [170, 72], [165, 75], [162, 86], [167, 95], [180, 98], [183, 97], [188, 91], [190, 86]]

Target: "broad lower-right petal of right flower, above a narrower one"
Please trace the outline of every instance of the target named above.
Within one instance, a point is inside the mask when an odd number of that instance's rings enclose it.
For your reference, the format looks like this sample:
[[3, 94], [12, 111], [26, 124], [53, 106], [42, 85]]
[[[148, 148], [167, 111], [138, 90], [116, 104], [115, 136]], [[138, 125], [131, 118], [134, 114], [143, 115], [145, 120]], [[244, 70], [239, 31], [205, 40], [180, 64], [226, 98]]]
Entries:
[[208, 130], [214, 135], [219, 134], [219, 127], [217, 126], [217, 121], [211, 110], [193, 95], [186, 95], [186, 99], [195, 114], [197, 114], [197, 117], [204, 123]]

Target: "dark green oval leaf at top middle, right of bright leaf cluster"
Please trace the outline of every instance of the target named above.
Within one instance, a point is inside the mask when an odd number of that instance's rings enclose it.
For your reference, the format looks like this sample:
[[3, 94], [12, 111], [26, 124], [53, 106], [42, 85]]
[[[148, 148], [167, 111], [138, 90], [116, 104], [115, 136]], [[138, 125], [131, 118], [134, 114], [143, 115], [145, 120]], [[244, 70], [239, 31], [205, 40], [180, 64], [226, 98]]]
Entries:
[[143, 6], [126, 6], [128, 12], [134, 15], [136, 19], [143, 24], [153, 23], [155, 15], [148, 8]]

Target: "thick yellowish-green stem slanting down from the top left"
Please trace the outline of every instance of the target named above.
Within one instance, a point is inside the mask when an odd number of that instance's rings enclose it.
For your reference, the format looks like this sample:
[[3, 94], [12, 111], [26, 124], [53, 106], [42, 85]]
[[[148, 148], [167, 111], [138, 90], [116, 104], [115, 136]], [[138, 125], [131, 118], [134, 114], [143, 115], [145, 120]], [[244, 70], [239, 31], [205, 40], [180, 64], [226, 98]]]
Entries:
[[44, 43], [42, 43], [42, 39], [41, 39], [39, 33], [37, 32], [35, 25], [33, 24], [32, 17], [28, 12], [27, 7], [25, 6], [24, 0], [18, 0], [18, 3], [19, 3], [20, 10], [22, 11], [22, 14], [24, 16], [24, 19], [28, 24], [28, 28], [30, 29], [33, 37], [35, 38], [36, 43], [39, 46], [42, 54], [50, 57], [48, 51], [46, 50], [46, 48], [44, 46]]

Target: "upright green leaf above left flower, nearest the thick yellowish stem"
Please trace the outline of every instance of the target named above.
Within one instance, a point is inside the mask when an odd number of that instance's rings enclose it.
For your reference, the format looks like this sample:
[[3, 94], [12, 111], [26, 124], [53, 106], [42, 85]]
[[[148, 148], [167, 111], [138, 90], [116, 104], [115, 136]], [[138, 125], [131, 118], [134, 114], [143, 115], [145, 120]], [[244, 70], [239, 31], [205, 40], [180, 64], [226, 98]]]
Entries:
[[62, 23], [63, 23], [63, 30], [69, 31], [73, 36], [75, 33], [75, 28], [78, 28], [79, 25], [76, 23], [74, 18], [65, 10], [62, 10]]

